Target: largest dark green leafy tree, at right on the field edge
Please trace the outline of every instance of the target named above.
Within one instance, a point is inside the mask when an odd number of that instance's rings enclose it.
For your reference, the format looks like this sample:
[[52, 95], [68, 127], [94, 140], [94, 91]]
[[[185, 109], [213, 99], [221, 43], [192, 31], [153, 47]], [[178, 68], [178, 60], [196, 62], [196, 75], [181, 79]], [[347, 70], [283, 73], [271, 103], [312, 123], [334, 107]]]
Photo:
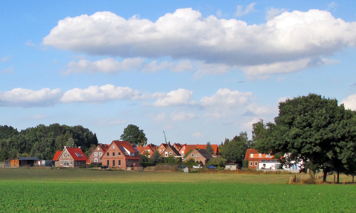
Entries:
[[[258, 151], [272, 151], [285, 166], [292, 160], [303, 161], [302, 171], [322, 170], [324, 182], [329, 171], [345, 171], [347, 160], [355, 159], [356, 147], [350, 143], [356, 139], [351, 134], [355, 116], [347, 116], [349, 112], [336, 99], [309, 94], [281, 102], [278, 108], [274, 123], [267, 123], [264, 138], [256, 142]], [[345, 125], [350, 127], [347, 131]]]

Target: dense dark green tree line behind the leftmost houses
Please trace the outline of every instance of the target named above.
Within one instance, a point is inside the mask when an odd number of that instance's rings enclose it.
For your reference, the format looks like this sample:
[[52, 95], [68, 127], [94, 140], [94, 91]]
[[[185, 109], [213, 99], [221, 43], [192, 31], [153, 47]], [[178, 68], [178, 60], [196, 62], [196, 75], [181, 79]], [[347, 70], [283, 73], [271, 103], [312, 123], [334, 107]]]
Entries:
[[80, 147], [85, 153], [92, 144], [98, 144], [96, 134], [80, 125], [40, 124], [20, 132], [0, 126], [0, 161], [20, 156], [49, 160], [64, 146]]

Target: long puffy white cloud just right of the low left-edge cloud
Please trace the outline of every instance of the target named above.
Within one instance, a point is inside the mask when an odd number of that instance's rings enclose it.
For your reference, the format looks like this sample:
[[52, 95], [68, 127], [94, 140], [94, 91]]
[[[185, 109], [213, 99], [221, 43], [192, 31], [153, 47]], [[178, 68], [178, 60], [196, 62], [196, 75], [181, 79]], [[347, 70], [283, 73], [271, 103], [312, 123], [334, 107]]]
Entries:
[[62, 102], [102, 102], [110, 100], [128, 100], [140, 95], [137, 90], [129, 87], [89, 86], [87, 89], [74, 88], [64, 93]]

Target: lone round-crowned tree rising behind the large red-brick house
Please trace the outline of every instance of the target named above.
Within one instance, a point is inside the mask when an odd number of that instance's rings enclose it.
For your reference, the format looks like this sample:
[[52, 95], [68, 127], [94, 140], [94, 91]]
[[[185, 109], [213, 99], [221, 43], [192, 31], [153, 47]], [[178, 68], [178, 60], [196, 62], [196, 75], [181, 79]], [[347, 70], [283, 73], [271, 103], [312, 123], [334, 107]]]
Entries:
[[129, 124], [124, 129], [124, 133], [120, 136], [121, 140], [130, 142], [133, 146], [146, 146], [147, 138], [146, 134], [143, 133], [142, 129], [139, 129], [138, 126]]

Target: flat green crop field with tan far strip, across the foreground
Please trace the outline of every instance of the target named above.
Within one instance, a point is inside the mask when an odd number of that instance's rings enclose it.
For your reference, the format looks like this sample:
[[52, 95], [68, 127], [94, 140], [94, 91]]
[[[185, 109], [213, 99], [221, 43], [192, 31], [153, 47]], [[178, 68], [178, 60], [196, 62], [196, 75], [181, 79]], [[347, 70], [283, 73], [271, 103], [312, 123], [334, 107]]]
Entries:
[[0, 169], [0, 212], [355, 212], [355, 185], [289, 176]]

